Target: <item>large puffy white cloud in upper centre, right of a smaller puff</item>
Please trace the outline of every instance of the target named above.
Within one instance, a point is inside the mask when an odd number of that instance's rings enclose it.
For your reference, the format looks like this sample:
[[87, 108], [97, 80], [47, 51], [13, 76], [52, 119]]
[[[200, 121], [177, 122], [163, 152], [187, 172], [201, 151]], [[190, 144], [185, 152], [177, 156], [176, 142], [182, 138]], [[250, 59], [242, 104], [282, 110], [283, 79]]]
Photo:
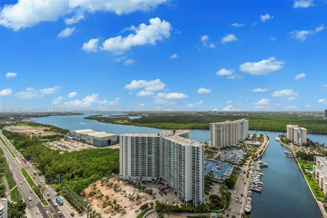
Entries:
[[171, 25], [166, 20], [159, 17], [151, 18], [150, 25], [140, 24], [138, 27], [131, 26], [126, 30], [134, 31], [135, 34], [129, 34], [126, 37], [116, 36], [105, 40], [102, 44], [102, 50], [105, 51], [125, 51], [132, 46], [142, 46], [146, 44], [156, 45], [156, 41], [169, 38]]

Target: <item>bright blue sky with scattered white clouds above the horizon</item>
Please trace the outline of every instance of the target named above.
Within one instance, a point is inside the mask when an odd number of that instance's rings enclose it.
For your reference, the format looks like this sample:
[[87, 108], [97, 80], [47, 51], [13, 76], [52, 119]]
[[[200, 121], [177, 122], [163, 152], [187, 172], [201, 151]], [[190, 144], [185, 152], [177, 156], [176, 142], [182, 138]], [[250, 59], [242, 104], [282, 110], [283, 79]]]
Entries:
[[327, 109], [325, 1], [0, 4], [1, 112]]

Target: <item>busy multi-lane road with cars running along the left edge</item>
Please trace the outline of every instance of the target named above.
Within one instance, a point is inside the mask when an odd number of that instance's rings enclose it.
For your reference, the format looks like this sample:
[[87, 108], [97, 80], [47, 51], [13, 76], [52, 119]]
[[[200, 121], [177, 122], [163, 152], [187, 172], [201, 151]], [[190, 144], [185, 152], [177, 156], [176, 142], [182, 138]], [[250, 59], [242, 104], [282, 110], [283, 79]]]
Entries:
[[[0, 137], [3, 138], [6, 145], [0, 141], [0, 147], [4, 151], [4, 156], [7, 158], [8, 163], [8, 171], [12, 173], [13, 180], [17, 184], [17, 189], [19, 194], [21, 195], [24, 202], [27, 204], [27, 216], [28, 217], [49, 217], [48, 214], [51, 214], [52, 217], [59, 217], [58, 211], [61, 211], [62, 215], [60, 217], [69, 217], [71, 216], [71, 212], [74, 212], [76, 217], [76, 212], [73, 208], [66, 202], [63, 205], [58, 205], [55, 207], [56, 198], [58, 197], [57, 192], [49, 185], [45, 184], [44, 177], [42, 174], [29, 163], [23, 161], [22, 155], [18, 150], [14, 148], [14, 146], [6, 139], [6, 137], [0, 132]], [[14, 156], [12, 155], [14, 154]], [[30, 178], [33, 179], [36, 186], [40, 185], [44, 188], [43, 197], [45, 200], [49, 198], [51, 201], [47, 201], [49, 205], [43, 205], [41, 200], [37, 197], [37, 195], [32, 190], [33, 187], [29, 185], [27, 182], [28, 178], [24, 178], [20, 170], [25, 168], [29, 173]], [[34, 173], [36, 172], [36, 175]], [[9, 191], [9, 190], [8, 190]], [[47, 196], [49, 193], [49, 196]], [[30, 200], [31, 198], [32, 200]]]

